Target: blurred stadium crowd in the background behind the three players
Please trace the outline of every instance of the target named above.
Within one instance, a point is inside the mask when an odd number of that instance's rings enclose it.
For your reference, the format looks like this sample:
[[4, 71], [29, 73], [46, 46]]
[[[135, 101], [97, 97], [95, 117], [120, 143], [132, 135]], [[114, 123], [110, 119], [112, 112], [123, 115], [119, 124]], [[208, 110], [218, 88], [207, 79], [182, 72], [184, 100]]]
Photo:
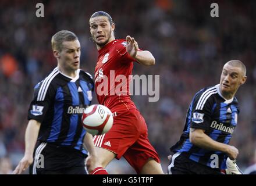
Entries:
[[[147, 121], [165, 173], [169, 148], [179, 140], [195, 92], [218, 84], [223, 65], [231, 59], [247, 66], [247, 83], [236, 95], [240, 115], [231, 144], [240, 151], [237, 164], [242, 170], [256, 163], [256, 1], [40, 2], [44, 17], [35, 16], [37, 1], [0, 1], [0, 174], [10, 173], [23, 157], [33, 87], [56, 66], [52, 35], [59, 30], [76, 33], [81, 69], [94, 74], [98, 53], [88, 19], [98, 10], [112, 16], [116, 38], [131, 35], [155, 56], [155, 66], [135, 64], [133, 74], [159, 74], [160, 99], [148, 102], [148, 96], [133, 96], [133, 101]], [[210, 15], [212, 2], [219, 5], [219, 17]], [[135, 173], [123, 159], [108, 170]]]

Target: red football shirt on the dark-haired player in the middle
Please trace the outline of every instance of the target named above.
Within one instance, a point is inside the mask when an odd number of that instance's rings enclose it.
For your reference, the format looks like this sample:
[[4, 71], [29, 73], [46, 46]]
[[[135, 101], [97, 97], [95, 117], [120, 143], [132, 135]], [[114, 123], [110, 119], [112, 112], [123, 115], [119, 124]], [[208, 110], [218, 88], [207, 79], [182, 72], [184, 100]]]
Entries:
[[136, 60], [126, 51], [126, 40], [113, 40], [98, 52], [94, 73], [99, 104], [112, 112], [136, 109], [129, 96], [131, 71]]

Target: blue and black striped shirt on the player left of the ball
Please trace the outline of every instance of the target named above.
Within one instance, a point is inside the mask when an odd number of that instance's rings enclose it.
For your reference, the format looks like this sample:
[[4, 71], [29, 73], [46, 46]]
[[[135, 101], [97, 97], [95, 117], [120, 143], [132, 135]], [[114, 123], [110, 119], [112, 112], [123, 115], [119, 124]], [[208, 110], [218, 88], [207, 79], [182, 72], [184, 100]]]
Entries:
[[28, 115], [29, 120], [41, 123], [38, 140], [87, 154], [83, 148], [86, 130], [81, 115], [91, 103], [93, 89], [93, 78], [80, 69], [77, 77], [71, 78], [56, 67], [38, 83]]

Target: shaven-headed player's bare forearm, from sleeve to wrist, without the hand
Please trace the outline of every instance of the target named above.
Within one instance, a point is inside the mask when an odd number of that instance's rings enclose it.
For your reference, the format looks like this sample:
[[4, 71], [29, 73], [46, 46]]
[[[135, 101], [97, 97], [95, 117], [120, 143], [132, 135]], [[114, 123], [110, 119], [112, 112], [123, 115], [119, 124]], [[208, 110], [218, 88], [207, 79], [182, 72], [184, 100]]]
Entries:
[[193, 145], [199, 146], [203, 149], [208, 149], [210, 151], [227, 151], [226, 144], [212, 140], [212, 138], [205, 133], [190, 134], [190, 142]]

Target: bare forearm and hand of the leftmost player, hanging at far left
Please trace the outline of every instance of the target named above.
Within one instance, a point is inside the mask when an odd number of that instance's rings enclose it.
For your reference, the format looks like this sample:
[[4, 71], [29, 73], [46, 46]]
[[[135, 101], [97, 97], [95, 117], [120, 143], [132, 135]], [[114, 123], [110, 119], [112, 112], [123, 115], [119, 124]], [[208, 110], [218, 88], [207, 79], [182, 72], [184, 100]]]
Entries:
[[41, 123], [36, 120], [29, 120], [25, 133], [25, 153], [22, 160], [20, 160], [13, 174], [21, 174], [23, 171], [33, 163], [33, 152], [35, 143], [37, 142], [38, 132]]

